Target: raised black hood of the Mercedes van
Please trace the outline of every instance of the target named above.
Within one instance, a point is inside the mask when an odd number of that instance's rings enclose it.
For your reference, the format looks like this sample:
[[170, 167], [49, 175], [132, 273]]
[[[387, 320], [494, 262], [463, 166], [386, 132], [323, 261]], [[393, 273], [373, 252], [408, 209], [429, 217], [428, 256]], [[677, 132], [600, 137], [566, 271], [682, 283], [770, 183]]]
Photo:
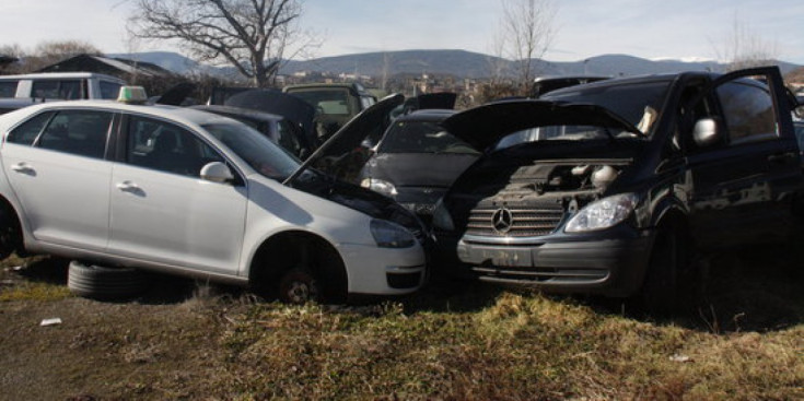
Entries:
[[458, 113], [441, 123], [482, 152], [503, 137], [536, 127], [595, 126], [644, 135], [637, 127], [596, 105], [547, 101], [505, 101]]

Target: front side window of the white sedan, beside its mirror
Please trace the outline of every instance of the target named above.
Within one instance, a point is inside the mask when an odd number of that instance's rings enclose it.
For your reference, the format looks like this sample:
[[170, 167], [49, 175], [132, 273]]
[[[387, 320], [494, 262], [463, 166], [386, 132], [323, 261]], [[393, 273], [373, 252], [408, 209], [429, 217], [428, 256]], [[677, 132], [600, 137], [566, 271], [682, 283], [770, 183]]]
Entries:
[[201, 167], [223, 158], [193, 132], [170, 122], [132, 116], [126, 162], [164, 173], [199, 177]]

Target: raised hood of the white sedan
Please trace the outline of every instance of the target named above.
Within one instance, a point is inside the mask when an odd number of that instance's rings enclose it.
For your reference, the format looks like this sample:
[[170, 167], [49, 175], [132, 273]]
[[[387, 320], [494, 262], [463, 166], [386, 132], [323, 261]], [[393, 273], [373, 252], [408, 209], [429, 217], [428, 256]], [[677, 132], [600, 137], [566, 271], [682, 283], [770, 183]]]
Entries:
[[393, 94], [360, 111], [318, 146], [299, 169], [284, 180], [284, 184], [292, 186], [292, 182], [310, 166], [327, 157], [338, 160], [360, 146], [370, 134], [377, 131], [383, 132], [388, 125], [391, 110], [401, 105], [403, 102], [405, 102], [405, 96]]

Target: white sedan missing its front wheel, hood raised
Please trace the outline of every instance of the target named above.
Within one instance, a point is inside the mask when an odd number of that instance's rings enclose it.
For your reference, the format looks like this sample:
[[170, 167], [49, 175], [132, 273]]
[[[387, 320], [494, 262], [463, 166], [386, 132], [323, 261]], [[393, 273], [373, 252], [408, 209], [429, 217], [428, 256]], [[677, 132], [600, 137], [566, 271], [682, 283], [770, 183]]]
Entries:
[[300, 164], [231, 118], [63, 102], [0, 116], [0, 132], [3, 258], [51, 253], [292, 303], [407, 294], [424, 282], [412, 213], [306, 168], [314, 161]]

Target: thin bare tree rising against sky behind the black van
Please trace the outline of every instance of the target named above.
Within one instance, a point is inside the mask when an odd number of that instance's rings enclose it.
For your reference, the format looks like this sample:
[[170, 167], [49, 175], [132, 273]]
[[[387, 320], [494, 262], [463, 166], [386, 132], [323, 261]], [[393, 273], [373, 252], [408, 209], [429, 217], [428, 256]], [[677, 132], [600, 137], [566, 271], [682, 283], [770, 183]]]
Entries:
[[552, 0], [503, 0], [498, 39], [503, 54], [514, 61], [522, 89], [529, 87], [534, 64], [552, 44], [556, 7]]

